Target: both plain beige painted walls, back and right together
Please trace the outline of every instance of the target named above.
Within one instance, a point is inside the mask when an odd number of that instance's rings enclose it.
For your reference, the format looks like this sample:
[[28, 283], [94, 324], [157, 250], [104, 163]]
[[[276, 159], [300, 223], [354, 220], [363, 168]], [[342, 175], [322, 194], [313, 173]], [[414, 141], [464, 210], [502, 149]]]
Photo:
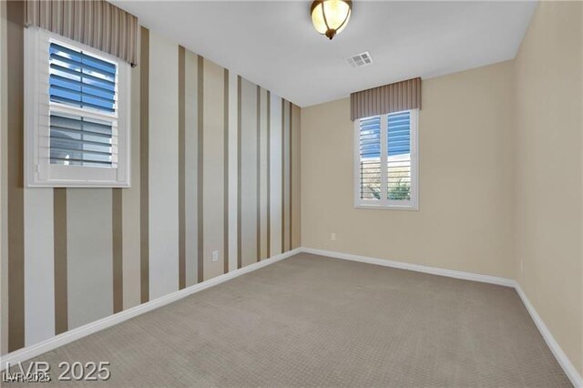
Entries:
[[541, 2], [515, 60], [424, 80], [419, 211], [354, 209], [349, 99], [302, 108], [302, 245], [517, 279], [583, 373], [582, 26]]

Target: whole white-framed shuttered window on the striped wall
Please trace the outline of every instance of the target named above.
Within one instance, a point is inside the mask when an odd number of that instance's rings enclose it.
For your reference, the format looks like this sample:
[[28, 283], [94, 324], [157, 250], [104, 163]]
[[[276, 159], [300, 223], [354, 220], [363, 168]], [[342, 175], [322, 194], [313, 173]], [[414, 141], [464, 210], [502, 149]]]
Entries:
[[129, 65], [26, 28], [26, 184], [129, 186]]

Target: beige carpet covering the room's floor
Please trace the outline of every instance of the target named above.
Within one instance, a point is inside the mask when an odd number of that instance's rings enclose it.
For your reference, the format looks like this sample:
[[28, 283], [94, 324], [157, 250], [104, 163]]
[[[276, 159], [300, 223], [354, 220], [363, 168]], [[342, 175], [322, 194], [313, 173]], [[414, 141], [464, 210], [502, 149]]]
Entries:
[[94, 387], [570, 386], [513, 289], [309, 254], [36, 360], [110, 362]]

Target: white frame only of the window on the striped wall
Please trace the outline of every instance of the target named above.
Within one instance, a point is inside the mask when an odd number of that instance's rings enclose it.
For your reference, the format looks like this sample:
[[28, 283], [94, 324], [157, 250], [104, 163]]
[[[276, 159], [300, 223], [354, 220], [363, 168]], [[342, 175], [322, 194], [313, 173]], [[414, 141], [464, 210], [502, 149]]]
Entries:
[[[108, 114], [50, 101], [49, 46], [72, 46], [118, 66], [116, 112]], [[44, 29], [25, 28], [25, 184], [49, 188], [130, 187], [130, 66], [115, 56]], [[50, 162], [50, 111], [112, 120], [117, 139], [117, 167], [65, 166]]]

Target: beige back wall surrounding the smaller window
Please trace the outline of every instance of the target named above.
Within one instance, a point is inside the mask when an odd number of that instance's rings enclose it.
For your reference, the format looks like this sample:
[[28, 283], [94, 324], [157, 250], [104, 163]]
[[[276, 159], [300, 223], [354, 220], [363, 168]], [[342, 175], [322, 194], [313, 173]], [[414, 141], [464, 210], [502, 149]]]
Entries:
[[302, 245], [511, 278], [511, 77], [505, 62], [424, 80], [419, 211], [354, 209], [349, 99], [302, 108]]

